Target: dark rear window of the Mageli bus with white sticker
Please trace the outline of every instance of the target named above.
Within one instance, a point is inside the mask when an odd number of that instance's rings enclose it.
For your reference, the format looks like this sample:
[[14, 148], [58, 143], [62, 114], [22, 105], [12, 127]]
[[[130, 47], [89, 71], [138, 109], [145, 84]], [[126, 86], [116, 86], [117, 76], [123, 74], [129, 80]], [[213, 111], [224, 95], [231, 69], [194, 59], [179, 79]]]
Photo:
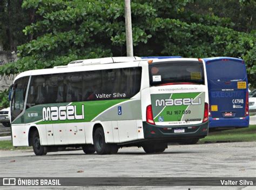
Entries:
[[164, 62], [149, 65], [150, 86], [170, 83], [205, 84], [200, 62]]

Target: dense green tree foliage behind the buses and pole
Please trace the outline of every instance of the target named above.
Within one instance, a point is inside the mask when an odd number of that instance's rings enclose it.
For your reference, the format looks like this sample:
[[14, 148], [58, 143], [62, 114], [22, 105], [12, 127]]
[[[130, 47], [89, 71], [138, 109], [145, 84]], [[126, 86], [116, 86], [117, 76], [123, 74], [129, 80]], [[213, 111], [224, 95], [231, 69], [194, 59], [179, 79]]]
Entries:
[[[212, 2], [132, 1], [134, 55], [241, 57], [247, 64], [249, 81], [255, 86], [254, 24], [238, 31], [241, 24], [234, 21], [230, 10], [223, 8], [221, 2]], [[254, 9], [254, 5], [240, 1], [232, 9]], [[224, 13], [221, 15], [213, 6]], [[33, 39], [18, 46], [21, 59], [0, 67], [0, 74], [50, 68], [76, 59], [126, 56], [122, 0], [25, 0], [22, 8], [36, 10], [36, 22], [23, 30]], [[239, 15], [240, 18], [244, 19]], [[243, 32], [246, 27], [250, 32]]]

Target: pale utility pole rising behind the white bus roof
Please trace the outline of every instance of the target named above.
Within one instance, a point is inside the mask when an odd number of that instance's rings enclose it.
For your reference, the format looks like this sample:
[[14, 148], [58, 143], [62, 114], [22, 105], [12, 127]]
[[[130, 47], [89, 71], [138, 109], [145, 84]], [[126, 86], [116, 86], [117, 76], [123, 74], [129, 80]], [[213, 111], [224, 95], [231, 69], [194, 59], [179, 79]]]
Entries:
[[131, 18], [131, 1], [124, 0], [125, 12], [125, 33], [126, 33], [126, 52], [127, 56], [133, 56], [132, 44], [132, 18]]

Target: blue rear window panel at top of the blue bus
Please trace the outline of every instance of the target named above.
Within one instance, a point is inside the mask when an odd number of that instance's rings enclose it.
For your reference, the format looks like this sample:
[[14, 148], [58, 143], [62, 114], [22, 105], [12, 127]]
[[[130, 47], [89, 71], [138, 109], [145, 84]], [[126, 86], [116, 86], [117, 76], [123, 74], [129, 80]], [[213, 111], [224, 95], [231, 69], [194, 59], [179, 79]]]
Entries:
[[207, 76], [209, 80], [244, 80], [246, 78], [245, 64], [233, 60], [208, 63]]

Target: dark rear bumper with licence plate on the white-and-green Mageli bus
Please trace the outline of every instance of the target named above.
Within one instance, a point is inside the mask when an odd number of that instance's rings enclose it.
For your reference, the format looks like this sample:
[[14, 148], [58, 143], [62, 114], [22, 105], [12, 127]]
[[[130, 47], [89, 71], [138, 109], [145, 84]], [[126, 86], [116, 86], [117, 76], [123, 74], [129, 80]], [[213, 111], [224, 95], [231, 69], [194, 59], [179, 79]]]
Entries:
[[197, 125], [159, 126], [143, 121], [145, 139], [165, 139], [179, 142], [181, 139], [200, 139], [208, 134], [208, 121]]

